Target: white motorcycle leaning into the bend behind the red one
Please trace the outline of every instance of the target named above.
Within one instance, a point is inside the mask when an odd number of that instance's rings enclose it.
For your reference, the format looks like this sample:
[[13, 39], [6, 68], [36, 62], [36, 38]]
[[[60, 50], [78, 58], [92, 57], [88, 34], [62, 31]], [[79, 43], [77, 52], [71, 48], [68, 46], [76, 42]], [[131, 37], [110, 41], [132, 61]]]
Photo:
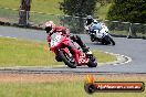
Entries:
[[101, 26], [102, 26], [101, 30], [98, 30], [96, 28], [97, 24], [93, 24], [93, 25], [94, 26], [91, 26], [91, 28], [93, 28], [93, 30], [90, 31], [90, 33], [88, 33], [92, 42], [97, 41], [97, 42], [101, 42], [102, 44], [105, 44], [105, 45], [107, 45], [107, 44], [115, 45], [115, 42], [112, 39], [109, 31], [108, 31], [106, 25], [101, 24]]

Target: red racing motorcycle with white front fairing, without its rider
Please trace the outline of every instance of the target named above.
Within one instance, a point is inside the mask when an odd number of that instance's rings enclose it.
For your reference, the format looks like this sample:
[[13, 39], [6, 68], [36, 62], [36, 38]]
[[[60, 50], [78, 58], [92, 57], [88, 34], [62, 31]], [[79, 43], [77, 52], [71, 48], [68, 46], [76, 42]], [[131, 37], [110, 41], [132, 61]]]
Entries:
[[70, 36], [62, 35], [59, 32], [51, 35], [50, 50], [55, 53], [58, 62], [64, 62], [71, 68], [82, 65], [87, 65], [88, 67], [97, 66], [97, 62], [91, 51], [84, 53]]

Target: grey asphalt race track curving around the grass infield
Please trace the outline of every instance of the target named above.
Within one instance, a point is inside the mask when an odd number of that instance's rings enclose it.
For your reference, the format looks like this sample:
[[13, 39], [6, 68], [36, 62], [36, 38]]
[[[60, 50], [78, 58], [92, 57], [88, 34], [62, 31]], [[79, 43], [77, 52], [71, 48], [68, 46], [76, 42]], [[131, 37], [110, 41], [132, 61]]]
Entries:
[[[1, 36], [10, 36], [25, 40], [45, 41], [45, 32], [40, 30], [20, 29], [12, 26], [0, 26]], [[106, 64], [95, 68], [88, 68], [86, 66], [77, 68], [69, 68], [67, 66], [59, 67], [12, 67], [9, 69], [23, 71], [23, 72], [44, 72], [44, 73], [146, 73], [146, 40], [143, 39], [126, 39], [114, 37], [116, 42], [115, 46], [101, 45], [98, 43], [92, 43], [88, 35], [81, 34], [81, 39], [91, 48], [98, 48], [105, 52], [125, 55], [132, 58], [132, 62], [125, 64]], [[7, 71], [7, 68], [0, 68], [0, 71]]]

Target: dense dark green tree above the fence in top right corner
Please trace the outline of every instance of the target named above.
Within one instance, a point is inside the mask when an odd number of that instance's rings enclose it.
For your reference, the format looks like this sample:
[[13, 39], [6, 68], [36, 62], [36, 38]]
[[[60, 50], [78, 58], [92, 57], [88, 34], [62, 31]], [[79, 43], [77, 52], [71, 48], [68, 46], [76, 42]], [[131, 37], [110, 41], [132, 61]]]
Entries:
[[146, 23], [146, 0], [114, 0], [107, 19]]

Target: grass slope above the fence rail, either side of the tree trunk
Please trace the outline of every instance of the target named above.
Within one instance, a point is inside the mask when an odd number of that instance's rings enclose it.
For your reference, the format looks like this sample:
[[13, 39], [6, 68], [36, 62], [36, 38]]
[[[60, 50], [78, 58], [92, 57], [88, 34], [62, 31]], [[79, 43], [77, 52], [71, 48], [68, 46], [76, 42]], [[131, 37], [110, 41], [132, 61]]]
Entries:
[[[19, 9], [21, 0], [0, 0], [1, 8]], [[31, 11], [62, 14], [59, 2], [62, 0], [32, 0]]]

